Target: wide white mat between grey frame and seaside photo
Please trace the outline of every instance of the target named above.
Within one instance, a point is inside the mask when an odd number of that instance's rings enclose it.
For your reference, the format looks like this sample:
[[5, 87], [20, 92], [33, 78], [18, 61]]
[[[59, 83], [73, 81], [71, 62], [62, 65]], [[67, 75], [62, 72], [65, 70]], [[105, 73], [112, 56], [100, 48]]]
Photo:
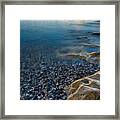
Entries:
[[[20, 20], [100, 20], [100, 100], [20, 100]], [[115, 114], [114, 5], [5, 6], [6, 115]]]

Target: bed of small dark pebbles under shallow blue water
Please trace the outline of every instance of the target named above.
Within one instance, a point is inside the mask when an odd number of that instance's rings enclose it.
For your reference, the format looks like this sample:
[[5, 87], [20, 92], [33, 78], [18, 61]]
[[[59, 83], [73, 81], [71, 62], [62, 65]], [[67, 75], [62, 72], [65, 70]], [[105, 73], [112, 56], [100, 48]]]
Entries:
[[99, 64], [58, 58], [54, 51], [54, 47], [49, 49], [43, 43], [23, 45], [20, 57], [21, 100], [66, 100], [66, 86], [100, 70]]

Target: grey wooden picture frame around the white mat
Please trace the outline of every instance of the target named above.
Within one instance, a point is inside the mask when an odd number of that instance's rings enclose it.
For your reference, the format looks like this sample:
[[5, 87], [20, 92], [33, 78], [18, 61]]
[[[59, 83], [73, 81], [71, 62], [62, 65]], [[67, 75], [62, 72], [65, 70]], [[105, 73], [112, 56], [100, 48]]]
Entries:
[[[2, 1], [1, 2], [1, 60], [0, 60], [0, 118], [1, 119], [118, 119], [119, 120], [119, 13], [120, 1]], [[5, 115], [5, 5], [115, 5], [115, 115]]]

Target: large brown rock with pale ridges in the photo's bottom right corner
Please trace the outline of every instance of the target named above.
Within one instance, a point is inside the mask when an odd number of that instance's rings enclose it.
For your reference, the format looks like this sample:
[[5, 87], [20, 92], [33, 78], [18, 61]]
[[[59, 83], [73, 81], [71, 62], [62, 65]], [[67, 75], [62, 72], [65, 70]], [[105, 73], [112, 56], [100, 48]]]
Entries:
[[[68, 100], [98, 100], [100, 99], [100, 72], [78, 79], [66, 89]], [[93, 79], [93, 78], [96, 79]]]

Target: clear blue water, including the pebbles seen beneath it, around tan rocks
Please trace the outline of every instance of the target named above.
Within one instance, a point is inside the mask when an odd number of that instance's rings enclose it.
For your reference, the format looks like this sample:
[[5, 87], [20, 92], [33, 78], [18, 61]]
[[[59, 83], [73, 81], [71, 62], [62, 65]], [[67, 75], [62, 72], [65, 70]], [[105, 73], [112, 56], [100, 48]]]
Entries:
[[100, 52], [99, 21], [21, 21], [20, 99], [66, 100], [66, 86], [100, 69], [66, 54], [91, 52]]

